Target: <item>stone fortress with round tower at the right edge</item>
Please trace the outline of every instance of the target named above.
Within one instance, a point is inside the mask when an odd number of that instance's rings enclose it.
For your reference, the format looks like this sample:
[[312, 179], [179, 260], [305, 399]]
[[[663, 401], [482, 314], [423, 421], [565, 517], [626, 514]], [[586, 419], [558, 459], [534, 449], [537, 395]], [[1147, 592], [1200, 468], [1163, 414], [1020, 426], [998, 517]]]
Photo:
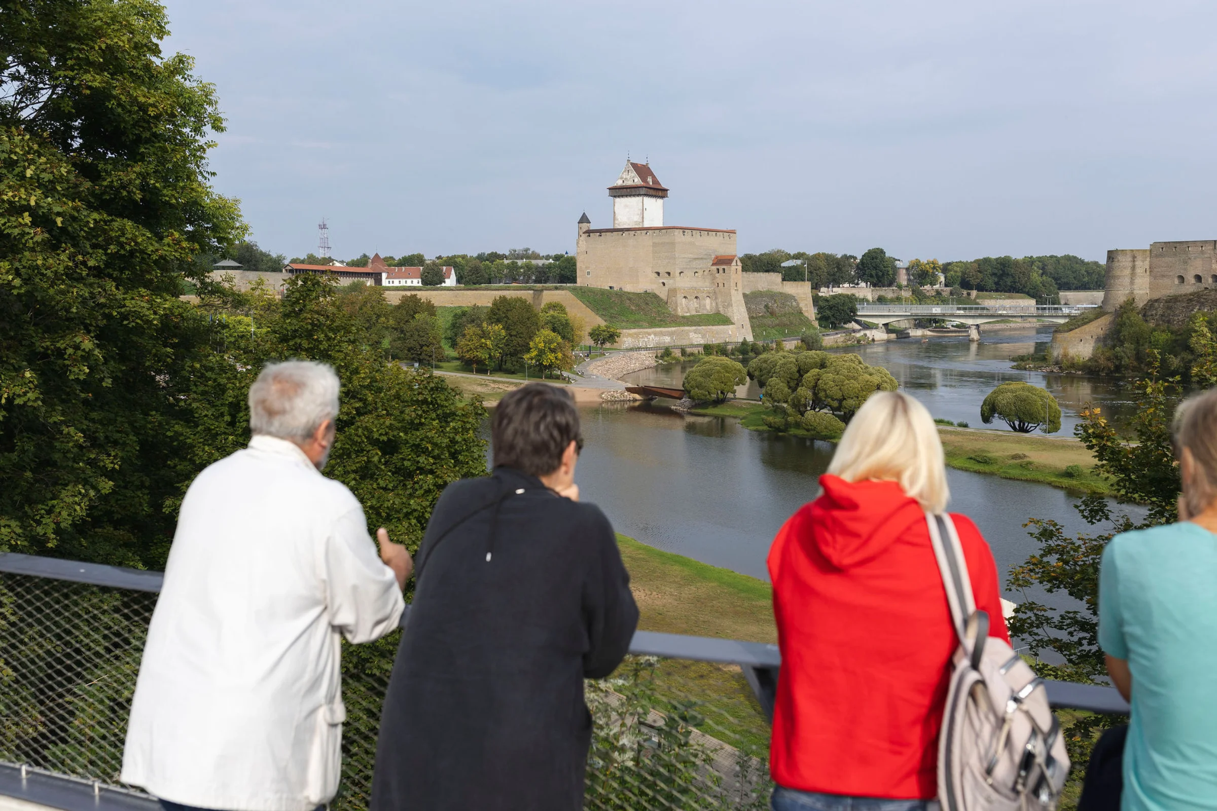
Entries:
[[1129, 297], [1139, 306], [1163, 295], [1217, 288], [1215, 252], [1217, 240], [1109, 250], [1103, 309], [1112, 312]]

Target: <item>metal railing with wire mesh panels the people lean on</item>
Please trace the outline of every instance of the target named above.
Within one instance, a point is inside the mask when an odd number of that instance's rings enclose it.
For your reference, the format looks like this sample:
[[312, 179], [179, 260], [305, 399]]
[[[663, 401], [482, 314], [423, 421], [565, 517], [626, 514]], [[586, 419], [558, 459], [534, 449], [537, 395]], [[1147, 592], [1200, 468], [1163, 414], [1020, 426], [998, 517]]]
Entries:
[[[0, 795], [151, 807], [118, 777], [159, 588], [159, 573], [0, 554]], [[335, 810], [368, 807], [398, 633], [344, 649]], [[612, 676], [587, 682], [595, 725], [585, 807], [767, 809], [780, 664], [773, 644], [639, 631]], [[1054, 706], [1127, 711], [1107, 687], [1048, 691]]]

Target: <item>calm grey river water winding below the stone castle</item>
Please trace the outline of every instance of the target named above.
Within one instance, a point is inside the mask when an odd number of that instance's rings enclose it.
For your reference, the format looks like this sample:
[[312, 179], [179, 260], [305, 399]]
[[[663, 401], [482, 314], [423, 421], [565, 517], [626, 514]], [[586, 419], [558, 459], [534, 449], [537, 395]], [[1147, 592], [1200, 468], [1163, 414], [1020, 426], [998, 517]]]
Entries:
[[[1010, 355], [1030, 353], [1037, 344], [1042, 349], [1047, 339], [1044, 332], [1028, 331], [989, 333], [978, 345], [966, 338], [931, 338], [843, 351], [860, 351], [867, 362], [886, 366], [933, 416], [976, 427], [981, 426], [980, 401], [1005, 379], [1044, 385], [1058, 398], [1065, 412], [1060, 435], [1072, 433], [1077, 410], [1088, 400], [1116, 415], [1129, 412], [1115, 385], [1009, 368]], [[680, 365], [673, 365], [628, 379], [671, 384], [682, 376]], [[734, 418], [685, 416], [656, 404], [605, 404], [583, 409], [582, 417], [587, 446], [576, 479], [582, 497], [600, 505], [618, 531], [763, 579], [768, 579], [765, 554], [774, 534], [815, 497], [817, 479], [834, 449], [829, 443], [747, 430]], [[1051, 518], [1070, 531], [1087, 529], [1072, 508], [1078, 495], [978, 473], [947, 473], [950, 509], [980, 526], [1003, 585], [1010, 568], [1036, 548], [1022, 526], [1028, 518]]]

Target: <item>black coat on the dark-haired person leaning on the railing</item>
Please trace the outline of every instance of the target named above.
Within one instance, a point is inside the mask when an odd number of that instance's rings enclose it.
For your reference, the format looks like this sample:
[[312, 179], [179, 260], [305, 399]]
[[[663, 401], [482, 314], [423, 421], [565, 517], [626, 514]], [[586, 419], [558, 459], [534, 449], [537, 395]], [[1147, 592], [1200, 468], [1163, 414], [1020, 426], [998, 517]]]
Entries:
[[498, 468], [452, 484], [381, 716], [372, 811], [577, 811], [591, 738], [583, 678], [638, 625], [608, 519]]

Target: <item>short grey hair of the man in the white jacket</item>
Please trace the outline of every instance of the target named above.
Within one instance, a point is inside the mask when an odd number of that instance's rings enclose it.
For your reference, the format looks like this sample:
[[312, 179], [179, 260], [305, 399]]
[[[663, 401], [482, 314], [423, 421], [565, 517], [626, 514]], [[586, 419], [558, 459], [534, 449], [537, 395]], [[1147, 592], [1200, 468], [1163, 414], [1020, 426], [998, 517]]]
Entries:
[[249, 387], [249, 433], [307, 441], [338, 416], [338, 376], [312, 360], [267, 364]]

